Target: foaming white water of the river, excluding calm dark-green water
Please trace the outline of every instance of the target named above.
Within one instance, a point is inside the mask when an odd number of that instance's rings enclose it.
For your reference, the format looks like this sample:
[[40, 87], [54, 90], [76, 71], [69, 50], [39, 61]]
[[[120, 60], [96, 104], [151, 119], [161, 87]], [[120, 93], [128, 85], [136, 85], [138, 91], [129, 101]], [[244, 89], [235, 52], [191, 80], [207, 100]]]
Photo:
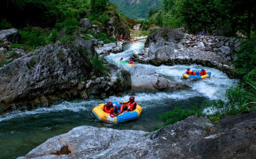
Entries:
[[[124, 51], [119, 54], [110, 54], [106, 56], [106, 60], [114, 65], [122, 67], [123, 69], [129, 70], [132, 66], [123, 65], [119, 63], [119, 59], [123, 57], [124, 60], [128, 60], [134, 53], [139, 53], [144, 49], [145, 40], [140, 40], [137, 43], [130, 43], [124, 46]], [[157, 107], [159, 105], [166, 105], [168, 100], [185, 100], [191, 97], [205, 97], [210, 100], [213, 99], [225, 99], [225, 91], [232, 85], [235, 85], [238, 81], [236, 79], [229, 79], [228, 76], [217, 69], [202, 67], [200, 65], [176, 65], [176, 66], [152, 66], [139, 64], [135, 62], [135, 65], [141, 65], [146, 68], [153, 68], [157, 73], [162, 76], [171, 79], [176, 82], [183, 82], [189, 85], [192, 89], [188, 91], [178, 91], [173, 93], [135, 93], [136, 101], [142, 103], [145, 110], [150, 107]], [[190, 67], [193, 69], [205, 68], [211, 71], [211, 77], [202, 80], [186, 80], [183, 78], [183, 74], [186, 68]], [[22, 118], [30, 115], [39, 115], [49, 112], [61, 112], [61, 111], [91, 111], [92, 108], [103, 102], [108, 101], [123, 101], [128, 100], [129, 95], [124, 94], [121, 97], [111, 96], [104, 100], [75, 100], [72, 102], [64, 101], [61, 104], [53, 105], [48, 108], [37, 108], [31, 111], [13, 111], [0, 115], [0, 122], [10, 120], [13, 118]]]

